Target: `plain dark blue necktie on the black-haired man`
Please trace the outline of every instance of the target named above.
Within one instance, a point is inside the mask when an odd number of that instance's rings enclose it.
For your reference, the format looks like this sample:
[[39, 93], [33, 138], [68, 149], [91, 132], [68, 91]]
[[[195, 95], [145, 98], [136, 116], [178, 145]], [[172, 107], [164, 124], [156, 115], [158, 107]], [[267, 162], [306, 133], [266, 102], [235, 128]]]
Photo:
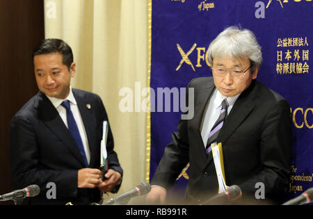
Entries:
[[70, 102], [68, 100], [62, 102], [61, 106], [63, 106], [66, 109], [66, 118], [67, 118], [67, 127], [70, 133], [72, 134], [77, 146], [79, 147], [79, 152], [81, 153], [81, 156], [83, 156], [83, 160], [86, 163], [86, 166], [88, 166], [87, 157], [85, 154], [85, 149], [83, 148], [83, 141], [81, 140], [81, 135], [79, 134], [79, 129], [77, 127], [77, 123], [74, 119], [73, 113], [70, 108]]

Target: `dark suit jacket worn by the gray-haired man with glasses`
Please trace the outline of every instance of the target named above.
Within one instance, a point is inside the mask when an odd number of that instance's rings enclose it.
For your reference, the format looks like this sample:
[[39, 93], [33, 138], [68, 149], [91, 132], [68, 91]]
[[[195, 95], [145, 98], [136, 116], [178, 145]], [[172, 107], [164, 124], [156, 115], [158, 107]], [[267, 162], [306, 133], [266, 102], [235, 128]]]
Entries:
[[[203, 201], [218, 191], [212, 154], [207, 156], [200, 130], [204, 108], [215, 86], [213, 78], [206, 77], [193, 79], [188, 87], [194, 88], [195, 115], [179, 121], [152, 184], [170, 188], [189, 162], [186, 198]], [[253, 80], [227, 115], [218, 142], [223, 147], [226, 184], [239, 185], [243, 198], [255, 200], [257, 182], [264, 184], [265, 198], [272, 201], [287, 188], [291, 115], [288, 102], [278, 93]]]

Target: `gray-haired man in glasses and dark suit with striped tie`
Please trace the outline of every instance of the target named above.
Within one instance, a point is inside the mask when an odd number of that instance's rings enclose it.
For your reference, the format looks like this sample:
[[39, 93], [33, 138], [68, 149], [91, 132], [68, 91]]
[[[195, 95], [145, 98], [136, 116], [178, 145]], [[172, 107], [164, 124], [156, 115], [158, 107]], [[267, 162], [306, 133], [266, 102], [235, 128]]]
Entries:
[[180, 120], [172, 133], [147, 202], [165, 202], [168, 188], [187, 163], [186, 200], [199, 204], [216, 195], [218, 179], [211, 152], [211, 143], [216, 142], [222, 143], [226, 185], [238, 185], [243, 202], [255, 203], [260, 197], [255, 193], [263, 185], [260, 200], [278, 203], [289, 183], [290, 106], [255, 80], [262, 52], [251, 31], [225, 29], [209, 45], [208, 59], [213, 77], [189, 83], [195, 115]]

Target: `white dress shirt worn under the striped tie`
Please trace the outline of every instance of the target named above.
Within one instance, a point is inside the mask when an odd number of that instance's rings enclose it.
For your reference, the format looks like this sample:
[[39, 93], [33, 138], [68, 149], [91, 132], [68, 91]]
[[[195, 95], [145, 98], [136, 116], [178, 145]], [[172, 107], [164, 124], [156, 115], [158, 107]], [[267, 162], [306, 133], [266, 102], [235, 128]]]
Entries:
[[201, 129], [202, 141], [204, 143], [204, 147], [207, 146], [207, 139], [209, 138], [209, 133], [214, 126], [216, 120], [220, 116], [220, 108], [222, 107], [223, 99], [227, 99], [229, 104], [227, 108], [227, 115], [230, 114], [232, 110], [232, 106], [238, 99], [240, 93], [234, 97], [225, 97], [223, 96], [217, 89], [214, 90], [211, 99], [209, 100], [209, 104], [207, 104], [207, 111], [205, 112], [204, 121]]

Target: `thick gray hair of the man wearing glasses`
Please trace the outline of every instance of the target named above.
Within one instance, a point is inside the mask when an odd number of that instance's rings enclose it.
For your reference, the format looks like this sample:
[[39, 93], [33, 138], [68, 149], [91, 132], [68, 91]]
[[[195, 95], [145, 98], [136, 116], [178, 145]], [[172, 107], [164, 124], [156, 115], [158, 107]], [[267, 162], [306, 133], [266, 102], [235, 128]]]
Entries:
[[234, 58], [248, 57], [251, 63], [251, 72], [262, 63], [261, 46], [255, 38], [255, 34], [248, 29], [240, 29], [238, 26], [230, 26], [211, 42], [207, 49], [207, 59], [213, 65], [213, 59], [221, 56]]

